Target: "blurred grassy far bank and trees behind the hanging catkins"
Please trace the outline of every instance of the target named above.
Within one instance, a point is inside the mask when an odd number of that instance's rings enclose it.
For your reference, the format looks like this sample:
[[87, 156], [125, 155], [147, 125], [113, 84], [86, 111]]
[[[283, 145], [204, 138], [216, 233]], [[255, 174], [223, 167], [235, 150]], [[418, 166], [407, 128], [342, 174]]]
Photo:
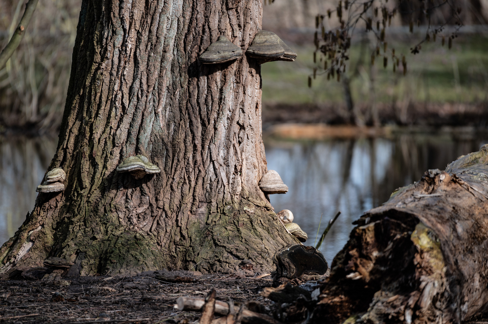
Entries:
[[[481, 125], [488, 90], [487, 17], [488, 2], [478, 0], [275, 0], [264, 6], [263, 29], [298, 45], [299, 56], [294, 65], [263, 65], [264, 120]], [[337, 36], [350, 48], [338, 48], [331, 41]], [[330, 59], [334, 49], [337, 55]], [[304, 87], [307, 77], [310, 89]]]

